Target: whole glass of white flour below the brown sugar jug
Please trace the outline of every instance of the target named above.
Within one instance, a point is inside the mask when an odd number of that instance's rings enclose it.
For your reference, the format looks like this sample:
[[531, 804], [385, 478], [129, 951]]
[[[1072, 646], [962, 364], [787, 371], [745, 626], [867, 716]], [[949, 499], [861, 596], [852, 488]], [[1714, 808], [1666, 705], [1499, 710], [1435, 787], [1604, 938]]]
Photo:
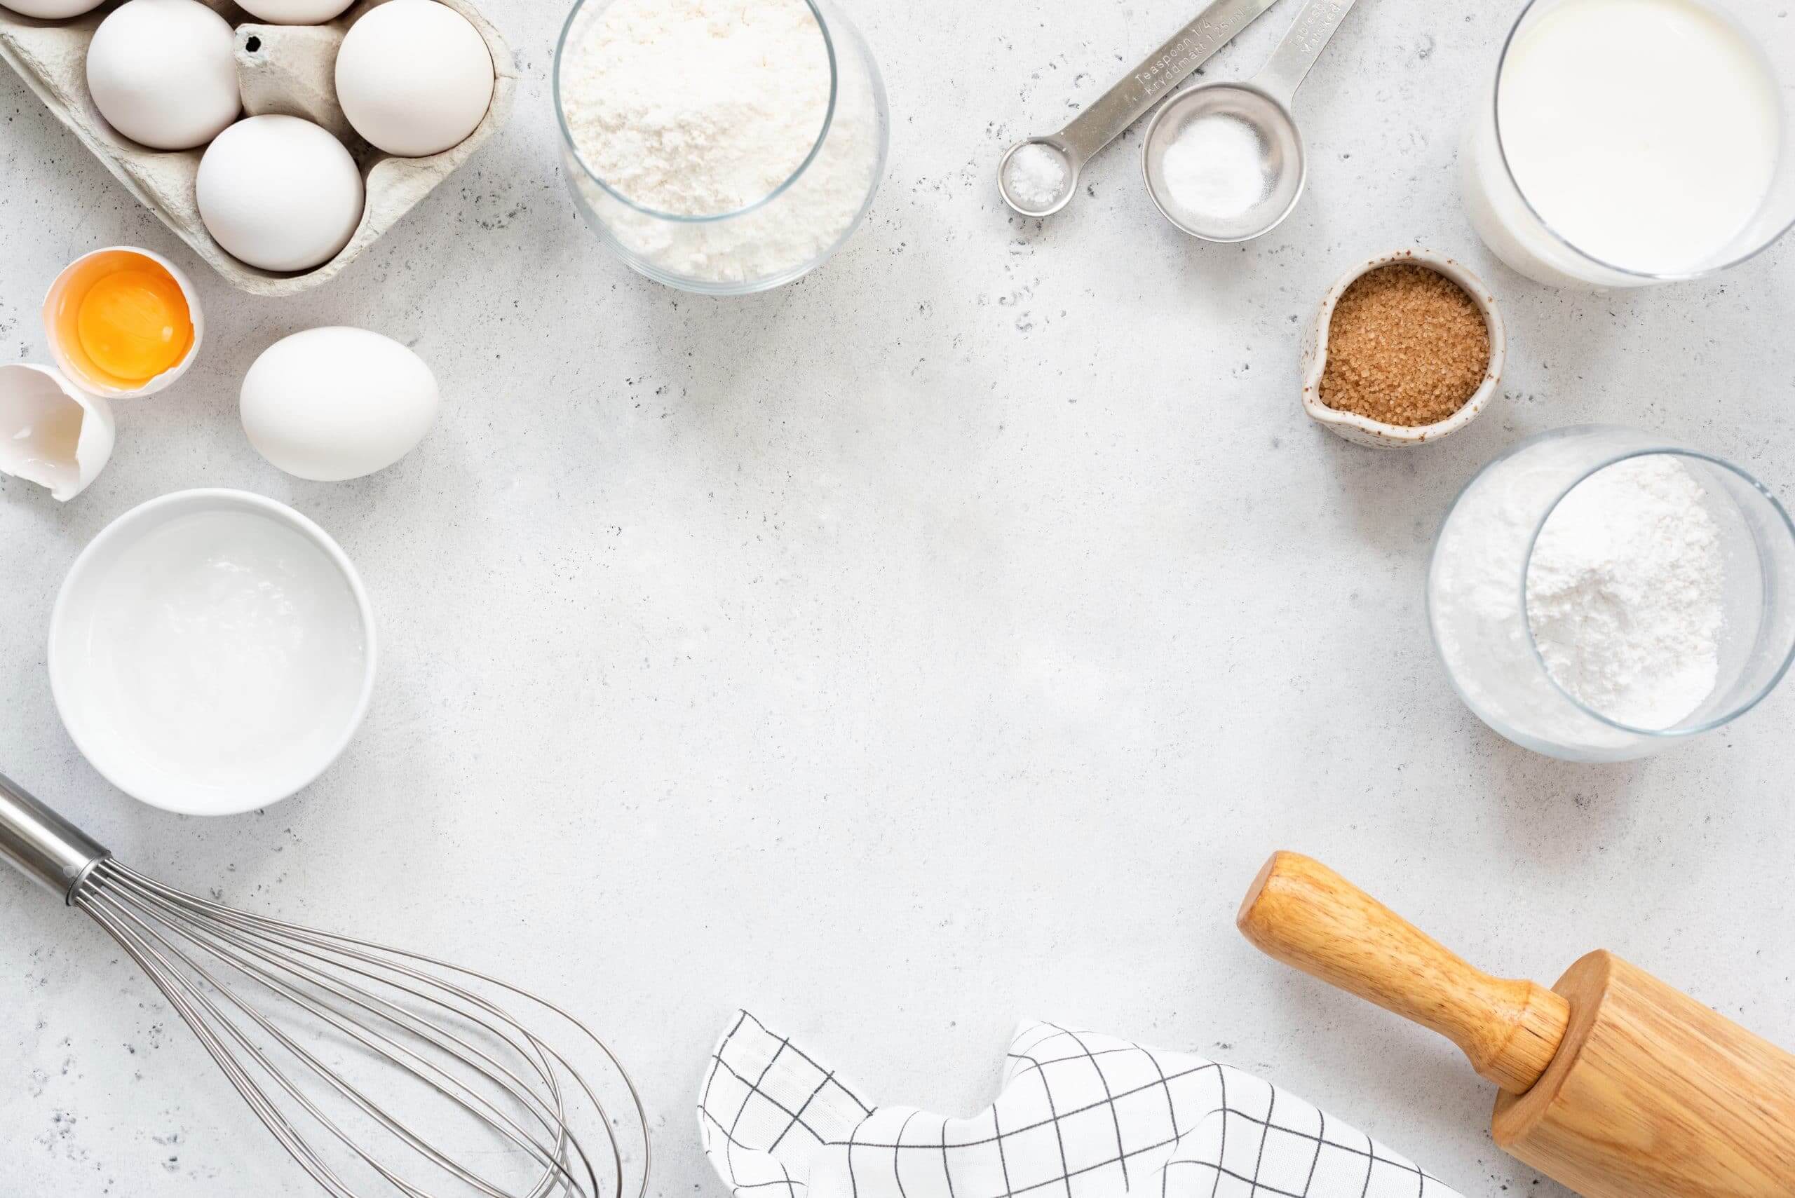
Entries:
[[1738, 466], [1633, 429], [1544, 432], [1447, 515], [1434, 647], [1495, 732], [1630, 760], [1756, 707], [1795, 658], [1795, 525]]

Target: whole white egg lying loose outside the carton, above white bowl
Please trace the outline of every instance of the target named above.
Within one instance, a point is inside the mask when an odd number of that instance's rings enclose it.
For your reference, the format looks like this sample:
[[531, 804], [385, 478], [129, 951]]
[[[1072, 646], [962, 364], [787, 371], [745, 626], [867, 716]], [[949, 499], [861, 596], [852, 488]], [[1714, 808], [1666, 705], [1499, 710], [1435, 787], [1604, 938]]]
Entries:
[[242, 430], [280, 470], [341, 482], [409, 454], [436, 404], [431, 368], [391, 337], [312, 328], [255, 359], [242, 380]]

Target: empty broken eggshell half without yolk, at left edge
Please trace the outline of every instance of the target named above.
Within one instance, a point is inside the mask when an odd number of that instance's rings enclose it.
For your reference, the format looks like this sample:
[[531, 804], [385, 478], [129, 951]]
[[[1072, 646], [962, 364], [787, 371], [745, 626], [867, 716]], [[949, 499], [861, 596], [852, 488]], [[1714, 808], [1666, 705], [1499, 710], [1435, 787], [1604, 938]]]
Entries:
[[0, 473], [66, 504], [106, 468], [115, 436], [106, 400], [47, 366], [0, 366]]

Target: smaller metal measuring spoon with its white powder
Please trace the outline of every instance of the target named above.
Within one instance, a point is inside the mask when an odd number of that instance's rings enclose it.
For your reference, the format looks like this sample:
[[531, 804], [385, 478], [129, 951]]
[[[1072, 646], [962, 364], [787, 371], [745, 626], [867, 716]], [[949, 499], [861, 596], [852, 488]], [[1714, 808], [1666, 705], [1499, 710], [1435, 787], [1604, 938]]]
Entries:
[[1273, 4], [1276, 0], [1213, 0], [1064, 129], [1011, 145], [998, 163], [1003, 203], [1025, 217], [1050, 217], [1064, 208], [1079, 190], [1084, 163]]

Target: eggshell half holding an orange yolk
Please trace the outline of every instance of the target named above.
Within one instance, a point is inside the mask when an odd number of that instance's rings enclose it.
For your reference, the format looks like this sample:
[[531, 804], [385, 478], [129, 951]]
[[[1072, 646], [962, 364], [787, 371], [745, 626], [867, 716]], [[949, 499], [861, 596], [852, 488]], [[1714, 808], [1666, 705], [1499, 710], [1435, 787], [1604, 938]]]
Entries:
[[[171, 305], [171, 310], [162, 316], [169, 319], [165, 335], [171, 339], [171, 344], [187, 343], [187, 352], [160, 373], [126, 377], [115, 369], [108, 369], [106, 362], [95, 360], [95, 353], [104, 357], [106, 350], [88, 341], [95, 317], [90, 312], [84, 323], [83, 305], [93, 294], [95, 285], [118, 274], [142, 276], [151, 282], [169, 280], [185, 301], [185, 310], [181, 310], [181, 305]], [[135, 303], [135, 300], [140, 300], [140, 296], [124, 294], [115, 303], [138, 321], [151, 319], [154, 314], [147, 312], [145, 305]], [[185, 375], [187, 368], [199, 357], [206, 317], [199, 310], [199, 296], [194, 292], [192, 280], [178, 265], [149, 249], [108, 246], [106, 249], [81, 255], [56, 276], [50, 291], [43, 296], [43, 328], [50, 339], [50, 357], [56, 359], [65, 375], [86, 391], [117, 400], [154, 395]], [[90, 352], [90, 344], [93, 352]], [[118, 366], [118, 362], [111, 362], [111, 366]]]

